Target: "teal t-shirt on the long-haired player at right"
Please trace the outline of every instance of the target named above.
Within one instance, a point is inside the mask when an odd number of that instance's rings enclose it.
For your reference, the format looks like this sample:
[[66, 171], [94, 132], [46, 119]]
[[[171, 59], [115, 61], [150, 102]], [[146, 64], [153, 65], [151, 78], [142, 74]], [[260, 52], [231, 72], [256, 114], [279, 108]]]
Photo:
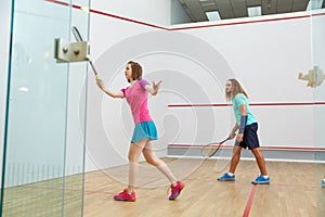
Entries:
[[242, 116], [240, 111], [239, 111], [239, 106], [243, 105], [243, 104], [246, 104], [246, 107], [247, 107], [247, 123], [246, 123], [246, 126], [251, 125], [253, 123], [257, 123], [255, 116], [251, 114], [251, 111], [250, 111], [250, 107], [249, 107], [249, 104], [248, 104], [248, 100], [245, 97], [245, 94], [237, 93], [233, 98], [232, 102], [233, 102], [235, 118], [236, 118], [236, 122], [239, 126], [240, 126], [240, 116]]

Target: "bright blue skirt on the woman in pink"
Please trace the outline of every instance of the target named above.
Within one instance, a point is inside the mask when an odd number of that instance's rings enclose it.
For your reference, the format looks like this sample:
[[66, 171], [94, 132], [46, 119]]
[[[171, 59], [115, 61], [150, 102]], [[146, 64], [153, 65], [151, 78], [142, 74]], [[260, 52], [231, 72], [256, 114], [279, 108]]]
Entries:
[[143, 139], [158, 139], [158, 133], [154, 122], [142, 122], [135, 125], [131, 143]]

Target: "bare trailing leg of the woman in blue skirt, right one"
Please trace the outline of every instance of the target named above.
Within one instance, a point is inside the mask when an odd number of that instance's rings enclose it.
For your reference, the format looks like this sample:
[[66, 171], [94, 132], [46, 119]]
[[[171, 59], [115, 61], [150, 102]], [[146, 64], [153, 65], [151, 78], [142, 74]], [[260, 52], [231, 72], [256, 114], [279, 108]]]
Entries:
[[156, 156], [156, 153], [153, 150], [153, 144], [151, 141], [146, 142], [142, 153], [143, 153], [145, 161], [148, 164], [157, 167], [157, 169], [159, 169], [168, 178], [170, 183], [172, 183], [172, 184], [177, 183], [177, 178], [173, 176], [170, 168], [166, 165], [165, 162], [162, 162], [160, 158], [158, 158]]

